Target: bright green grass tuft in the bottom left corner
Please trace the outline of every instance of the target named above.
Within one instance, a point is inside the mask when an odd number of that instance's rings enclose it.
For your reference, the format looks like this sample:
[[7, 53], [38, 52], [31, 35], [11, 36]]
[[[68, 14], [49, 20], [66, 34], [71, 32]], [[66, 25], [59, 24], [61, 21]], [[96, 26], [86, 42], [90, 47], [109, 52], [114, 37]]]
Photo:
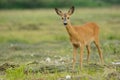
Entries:
[[20, 66], [17, 68], [9, 68], [6, 70], [6, 80], [24, 80], [25, 73], [24, 73], [24, 66]]

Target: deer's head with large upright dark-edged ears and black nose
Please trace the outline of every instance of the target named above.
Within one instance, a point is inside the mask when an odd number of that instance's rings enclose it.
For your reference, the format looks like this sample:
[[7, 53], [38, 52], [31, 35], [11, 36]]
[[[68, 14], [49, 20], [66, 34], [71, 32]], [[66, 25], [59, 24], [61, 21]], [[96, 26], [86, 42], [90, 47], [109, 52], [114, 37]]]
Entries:
[[62, 20], [63, 20], [63, 24], [67, 25], [70, 22], [70, 16], [73, 14], [74, 12], [74, 6], [72, 6], [70, 8], [70, 10], [67, 13], [63, 13], [62, 11], [60, 11], [59, 9], [55, 8], [56, 13], [61, 16]]

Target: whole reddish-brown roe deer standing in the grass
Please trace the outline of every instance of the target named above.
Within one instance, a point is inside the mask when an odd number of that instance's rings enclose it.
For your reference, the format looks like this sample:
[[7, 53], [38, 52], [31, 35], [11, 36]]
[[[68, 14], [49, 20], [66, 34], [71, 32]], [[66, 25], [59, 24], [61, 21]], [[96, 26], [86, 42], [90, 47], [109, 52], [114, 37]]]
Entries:
[[63, 24], [70, 36], [70, 41], [73, 45], [73, 70], [76, 62], [76, 52], [77, 48], [80, 47], [80, 68], [82, 69], [82, 61], [83, 61], [83, 51], [84, 47], [87, 48], [87, 62], [89, 61], [90, 56], [90, 43], [94, 42], [100, 56], [101, 63], [103, 63], [102, 52], [99, 45], [99, 27], [96, 23], [90, 22], [86, 23], [82, 26], [73, 26], [70, 22], [70, 16], [74, 12], [74, 6], [70, 8], [67, 13], [63, 13], [62, 11], [55, 8], [56, 13], [62, 17]]

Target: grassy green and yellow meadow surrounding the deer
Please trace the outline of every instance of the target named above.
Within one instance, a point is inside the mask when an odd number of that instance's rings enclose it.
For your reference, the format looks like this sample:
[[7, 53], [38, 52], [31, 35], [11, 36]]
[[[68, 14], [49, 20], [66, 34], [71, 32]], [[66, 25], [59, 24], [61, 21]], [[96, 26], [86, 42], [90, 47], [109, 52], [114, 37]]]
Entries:
[[100, 27], [105, 63], [92, 44], [90, 63], [85, 49], [83, 70], [77, 54], [72, 73], [72, 45], [54, 9], [0, 10], [0, 80], [120, 80], [120, 7], [76, 8], [71, 23], [87, 22]]

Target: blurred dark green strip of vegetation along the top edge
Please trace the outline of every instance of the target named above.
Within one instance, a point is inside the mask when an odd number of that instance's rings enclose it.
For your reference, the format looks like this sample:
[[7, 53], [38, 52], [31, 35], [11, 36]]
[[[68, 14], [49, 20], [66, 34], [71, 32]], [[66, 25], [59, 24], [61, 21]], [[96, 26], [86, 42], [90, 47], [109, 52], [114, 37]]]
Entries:
[[54, 7], [108, 7], [120, 5], [120, 0], [0, 0], [1, 9], [33, 9]]

